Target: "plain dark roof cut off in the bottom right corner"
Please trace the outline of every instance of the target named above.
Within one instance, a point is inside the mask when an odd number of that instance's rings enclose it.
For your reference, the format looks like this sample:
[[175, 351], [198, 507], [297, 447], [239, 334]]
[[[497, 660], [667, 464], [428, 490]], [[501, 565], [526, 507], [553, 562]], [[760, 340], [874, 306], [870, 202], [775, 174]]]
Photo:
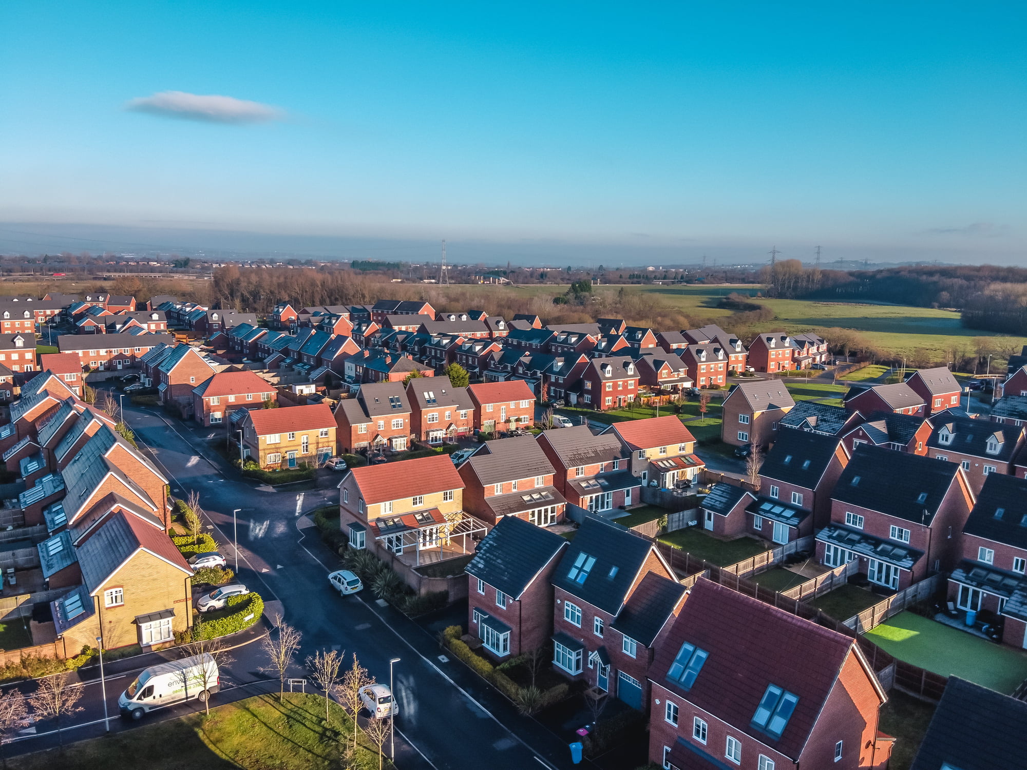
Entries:
[[910, 770], [1022, 770], [1027, 703], [950, 677]]

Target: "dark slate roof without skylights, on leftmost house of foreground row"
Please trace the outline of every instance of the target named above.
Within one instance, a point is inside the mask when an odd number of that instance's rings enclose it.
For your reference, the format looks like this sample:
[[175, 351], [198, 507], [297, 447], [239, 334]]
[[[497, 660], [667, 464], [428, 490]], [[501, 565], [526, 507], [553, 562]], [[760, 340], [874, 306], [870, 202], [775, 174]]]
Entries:
[[468, 575], [518, 599], [539, 572], [567, 545], [556, 533], [521, 518], [501, 518], [478, 544]]

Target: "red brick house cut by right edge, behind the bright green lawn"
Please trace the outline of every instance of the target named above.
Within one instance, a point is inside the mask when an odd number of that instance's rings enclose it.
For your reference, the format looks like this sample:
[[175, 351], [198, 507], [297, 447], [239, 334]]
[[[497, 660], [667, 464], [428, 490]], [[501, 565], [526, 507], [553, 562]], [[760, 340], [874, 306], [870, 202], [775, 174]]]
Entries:
[[963, 526], [962, 561], [949, 601], [964, 612], [1001, 616], [1002, 643], [1027, 649], [1027, 479], [994, 473]]

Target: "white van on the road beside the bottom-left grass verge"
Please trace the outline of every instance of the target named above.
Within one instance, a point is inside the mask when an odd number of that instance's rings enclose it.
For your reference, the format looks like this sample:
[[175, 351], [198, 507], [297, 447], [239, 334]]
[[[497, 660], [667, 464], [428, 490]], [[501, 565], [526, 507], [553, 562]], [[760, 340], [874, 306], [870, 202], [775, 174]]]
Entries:
[[128, 689], [118, 696], [121, 716], [142, 719], [154, 708], [206, 700], [221, 690], [218, 664], [204, 653], [182, 660], [170, 660], [141, 671]]

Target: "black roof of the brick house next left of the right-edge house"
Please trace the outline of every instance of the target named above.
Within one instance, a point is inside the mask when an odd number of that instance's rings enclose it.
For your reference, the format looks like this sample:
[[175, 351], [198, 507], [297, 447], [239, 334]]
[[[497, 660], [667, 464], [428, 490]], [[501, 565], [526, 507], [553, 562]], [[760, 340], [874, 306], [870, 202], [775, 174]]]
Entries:
[[930, 526], [958, 470], [958, 463], [864, 445], [852, 454], [831, 497]]

